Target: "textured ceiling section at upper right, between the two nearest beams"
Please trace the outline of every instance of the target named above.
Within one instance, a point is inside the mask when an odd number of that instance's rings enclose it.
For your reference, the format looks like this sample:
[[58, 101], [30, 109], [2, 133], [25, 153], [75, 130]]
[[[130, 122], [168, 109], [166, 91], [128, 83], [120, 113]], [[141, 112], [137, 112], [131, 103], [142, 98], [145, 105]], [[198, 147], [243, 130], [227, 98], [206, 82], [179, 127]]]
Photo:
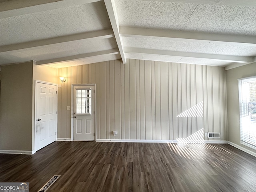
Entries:
[[116, 10], [120, 26], [256, 35], [252, 7], [116, 0]]

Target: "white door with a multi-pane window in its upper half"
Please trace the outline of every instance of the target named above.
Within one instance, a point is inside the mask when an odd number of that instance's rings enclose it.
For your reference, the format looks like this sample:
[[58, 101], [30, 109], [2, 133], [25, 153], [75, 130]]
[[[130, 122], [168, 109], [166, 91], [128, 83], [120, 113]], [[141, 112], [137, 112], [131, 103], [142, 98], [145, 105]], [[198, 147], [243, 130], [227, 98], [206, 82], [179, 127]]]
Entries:
[[73, 138], [95, 140], [94, 85], [73, 88]]

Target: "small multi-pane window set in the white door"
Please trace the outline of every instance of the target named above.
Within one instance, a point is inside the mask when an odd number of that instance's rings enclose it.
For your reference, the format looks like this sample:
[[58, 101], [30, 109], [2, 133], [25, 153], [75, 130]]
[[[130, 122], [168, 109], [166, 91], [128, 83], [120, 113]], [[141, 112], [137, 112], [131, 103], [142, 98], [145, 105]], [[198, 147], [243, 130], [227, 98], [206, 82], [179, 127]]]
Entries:
[[91, 90], [76, 90], [76, 114], [91, 114]]

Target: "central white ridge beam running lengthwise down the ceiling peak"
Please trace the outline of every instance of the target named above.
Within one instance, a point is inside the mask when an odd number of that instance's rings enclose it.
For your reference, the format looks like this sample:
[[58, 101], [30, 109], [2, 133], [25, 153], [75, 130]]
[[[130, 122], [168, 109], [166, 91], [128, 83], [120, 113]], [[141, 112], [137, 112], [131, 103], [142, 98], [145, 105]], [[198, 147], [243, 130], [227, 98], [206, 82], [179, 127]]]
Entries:
[[108, 17], [110, 19], [110, 23], [114, 32], [114, 36], [116, 38], [116, 43], [122, 58], [122, 62], [126, 63], [126, 57], [124, 54], [124, 46], [119, 34], [119, 23], [118, 23], [118, 18], [117, 18], [117, 13], [116, 13], [116, 6], [114, 3], [114, 0], [104, 0], [106, 9], [108, 12]]

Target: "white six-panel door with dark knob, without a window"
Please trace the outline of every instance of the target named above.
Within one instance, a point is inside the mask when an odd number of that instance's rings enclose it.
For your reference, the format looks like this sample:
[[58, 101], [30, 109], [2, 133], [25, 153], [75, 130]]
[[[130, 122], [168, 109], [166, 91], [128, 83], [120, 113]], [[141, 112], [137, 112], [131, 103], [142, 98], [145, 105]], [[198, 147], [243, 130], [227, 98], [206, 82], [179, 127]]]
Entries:
[[56, 141], [56, 90], [56, 85], [36, 82], [36, 151]]

